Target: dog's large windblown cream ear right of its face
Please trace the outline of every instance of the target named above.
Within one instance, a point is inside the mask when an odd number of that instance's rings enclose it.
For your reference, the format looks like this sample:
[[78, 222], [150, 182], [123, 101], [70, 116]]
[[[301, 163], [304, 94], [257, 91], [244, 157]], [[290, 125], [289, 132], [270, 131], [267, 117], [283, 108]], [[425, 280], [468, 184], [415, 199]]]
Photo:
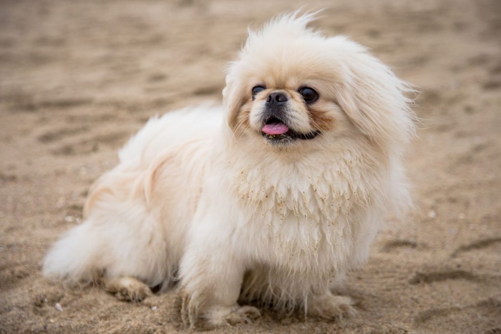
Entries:
[[405, 94], [415, 91], [365, 48], [353, 45], [354, 53], [345, 59], [336, 88], [339, 105], [352, 123], [383, 149], [409, 142], [416, 118], [410, 110], [412, 100]]

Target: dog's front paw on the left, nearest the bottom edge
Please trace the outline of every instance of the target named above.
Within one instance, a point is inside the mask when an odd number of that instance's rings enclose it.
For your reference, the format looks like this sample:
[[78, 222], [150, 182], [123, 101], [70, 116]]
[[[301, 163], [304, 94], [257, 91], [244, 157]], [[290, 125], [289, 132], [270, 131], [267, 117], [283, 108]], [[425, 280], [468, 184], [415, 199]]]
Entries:
[[252, 321], [261, 316], [261, 312], [254, 306], [232, 307], [212, 307], [205, 311], [202, 317], [212, 326], [234, 325], [240, 322], [252, 323]]

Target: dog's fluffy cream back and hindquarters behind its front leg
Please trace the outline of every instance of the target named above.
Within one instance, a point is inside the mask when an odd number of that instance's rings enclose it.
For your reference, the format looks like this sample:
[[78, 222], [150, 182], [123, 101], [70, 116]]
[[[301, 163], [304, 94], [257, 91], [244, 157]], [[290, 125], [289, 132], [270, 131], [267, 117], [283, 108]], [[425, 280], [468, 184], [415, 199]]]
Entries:
[[[78, 283], [133, 276], [166, 285], [221, 117], [220, 107], [200, 106], [150, 119], [120, 150], [119, 165], [94, 183], [85, 222], [54, 245], [44, 274]], [[193, 210], [175, 211], [187, 207]]]

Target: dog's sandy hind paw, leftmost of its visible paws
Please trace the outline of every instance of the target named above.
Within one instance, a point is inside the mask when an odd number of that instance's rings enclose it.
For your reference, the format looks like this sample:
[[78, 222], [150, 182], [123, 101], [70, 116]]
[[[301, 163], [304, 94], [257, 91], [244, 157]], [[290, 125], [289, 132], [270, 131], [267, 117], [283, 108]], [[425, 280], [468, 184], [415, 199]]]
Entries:
[[138, 302], [150, 296], [150, 288], [134, 277], [103, 279], [104, 288], [124, 301]]

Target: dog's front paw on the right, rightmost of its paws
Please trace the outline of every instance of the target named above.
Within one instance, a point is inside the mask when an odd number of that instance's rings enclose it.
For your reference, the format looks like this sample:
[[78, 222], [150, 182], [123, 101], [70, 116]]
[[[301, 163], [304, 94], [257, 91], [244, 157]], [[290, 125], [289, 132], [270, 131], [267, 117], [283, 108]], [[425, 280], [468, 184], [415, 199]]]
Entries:
[[356, 310], [353, 304], [350, 297], [328, 294], [315, 298], [309, 306], [309, 313], [331, 320], [343, 321], [355, 315]]

